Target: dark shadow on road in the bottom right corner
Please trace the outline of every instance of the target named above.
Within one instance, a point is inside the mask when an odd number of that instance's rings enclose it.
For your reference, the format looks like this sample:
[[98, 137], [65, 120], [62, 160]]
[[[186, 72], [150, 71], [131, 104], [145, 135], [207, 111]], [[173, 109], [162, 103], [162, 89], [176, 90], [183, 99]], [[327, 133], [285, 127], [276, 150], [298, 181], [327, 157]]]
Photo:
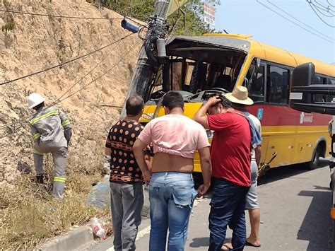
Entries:
[[315, 190], [301, 191], [299, 196], [311, 197], [312, 202], [297, 233], [298, 240], [308, 240], [307, 250], [331, 250], [331, 190], [315, 186]]

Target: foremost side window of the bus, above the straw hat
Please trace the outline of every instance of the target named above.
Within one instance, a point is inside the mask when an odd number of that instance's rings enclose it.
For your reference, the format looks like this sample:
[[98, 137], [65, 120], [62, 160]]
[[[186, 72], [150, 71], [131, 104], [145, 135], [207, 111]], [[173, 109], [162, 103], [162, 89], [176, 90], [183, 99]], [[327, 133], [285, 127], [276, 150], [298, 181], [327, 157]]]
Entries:
[[264, 70], [264, 65], [259, 66], [256, 70], [256, 60], [254, 59], [247, 72], [247, 79], [249, 80], [248, 93], [255, 103], [264, 102]]

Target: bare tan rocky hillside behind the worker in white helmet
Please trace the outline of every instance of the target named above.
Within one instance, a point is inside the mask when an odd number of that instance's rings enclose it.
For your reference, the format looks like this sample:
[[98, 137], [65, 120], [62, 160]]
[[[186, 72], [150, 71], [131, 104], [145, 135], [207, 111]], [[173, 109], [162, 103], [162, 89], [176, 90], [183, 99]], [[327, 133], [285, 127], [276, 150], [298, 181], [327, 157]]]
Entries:
[[[117, 18], [71, 19], [0, 12], [0, 25], [5, 27], [0, 31], [0, 83], [93, 52], [129, 34], [121, 28], [122, 16], [85, 0], [3, 0], [0, 9], [55, 16]], [[15, 27], [6, 30], [11, 23], [15, 23]], [[28, 95], [41, 93], [49, 105], [110, 54], [66, 93], [66, 96], [74, 95], [57, 105], [66, 112], [74, 127], [70, 146], [72, 160], [80, 164], [102, 154], [106, 129], [119, 117], [117, 108], [106, 105], [122, 105], [140, 45], [139, 37], [131, 35], [83, 59], [1, 85], [0, 184], [13, 182], [19, 170], [33, 169], [33, 144], [27, 123], [33, 112], [27, 107]], [[134, 50], [122, 59], [133, 47]], [[93, 81], [102, 74], [105, 75]]]

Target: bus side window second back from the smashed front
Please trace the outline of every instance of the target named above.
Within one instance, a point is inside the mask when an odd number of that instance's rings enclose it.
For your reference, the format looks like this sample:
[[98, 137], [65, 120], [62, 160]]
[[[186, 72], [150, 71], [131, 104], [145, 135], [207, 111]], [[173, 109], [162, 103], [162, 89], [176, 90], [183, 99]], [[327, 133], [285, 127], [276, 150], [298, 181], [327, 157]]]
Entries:
[[268, 67], [266, 102], [288, 104], [290, 74], [278, 66]]

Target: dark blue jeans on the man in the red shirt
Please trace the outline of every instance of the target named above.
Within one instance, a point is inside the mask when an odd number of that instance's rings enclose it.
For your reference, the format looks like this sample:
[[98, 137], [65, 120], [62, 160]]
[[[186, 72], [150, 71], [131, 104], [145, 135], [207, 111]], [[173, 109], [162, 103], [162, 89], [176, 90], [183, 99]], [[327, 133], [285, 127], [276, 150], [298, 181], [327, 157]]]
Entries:
[[233, 250], [243, 250], [247, 238], [245, 228], [245, 198], [249, 187], [214, 178], [211, 213], [209, 214], [210, 251], [221, 250], [227, 226], [233, 230]]

